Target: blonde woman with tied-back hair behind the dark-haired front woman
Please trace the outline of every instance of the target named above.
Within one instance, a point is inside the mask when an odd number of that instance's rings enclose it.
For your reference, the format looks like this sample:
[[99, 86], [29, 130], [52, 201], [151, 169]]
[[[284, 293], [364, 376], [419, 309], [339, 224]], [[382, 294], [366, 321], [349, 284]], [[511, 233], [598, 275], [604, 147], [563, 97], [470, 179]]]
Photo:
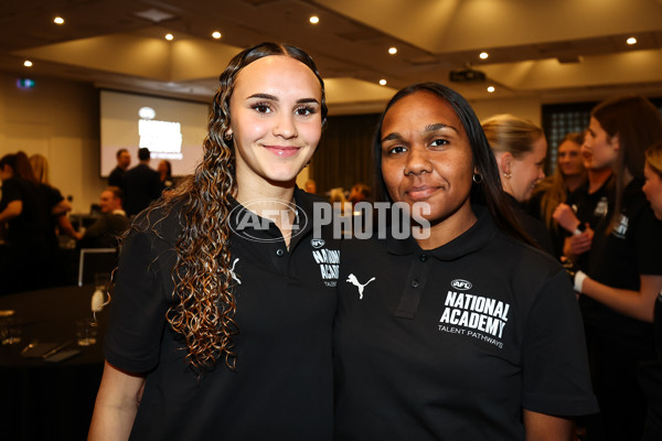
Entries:
[[543, 129], [513, 115], [496, 115], [482, 127], [496, 157], [502, 174], [503, 191], [526, 234], [543, 250], [554, 256], [554, 246], [545, 224], [524, 211], [535, 184], [545, 178], [543, 164], [547, 154], [547, 141]]

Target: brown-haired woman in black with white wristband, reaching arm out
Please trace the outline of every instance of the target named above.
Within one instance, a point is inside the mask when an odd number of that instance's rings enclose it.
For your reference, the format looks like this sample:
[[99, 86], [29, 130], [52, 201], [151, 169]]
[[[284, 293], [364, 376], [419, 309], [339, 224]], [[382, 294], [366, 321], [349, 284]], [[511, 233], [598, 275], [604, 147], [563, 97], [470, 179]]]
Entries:
[[[616, 203], [592, 238], [588, 267], [575, 275], [581, 293], [606, 440], [641, 438], [645, 400], [638, 365], [654, 357], [653, 304], [662, 290], [662, 224], [644, 193], [644, 151], [662, 139], [662, 118], [644, 97], [623, 96], [591, 111], [586, 146], [596, 166], [616, 175]], [[589, 434], [590, 435], [590, 434]]]

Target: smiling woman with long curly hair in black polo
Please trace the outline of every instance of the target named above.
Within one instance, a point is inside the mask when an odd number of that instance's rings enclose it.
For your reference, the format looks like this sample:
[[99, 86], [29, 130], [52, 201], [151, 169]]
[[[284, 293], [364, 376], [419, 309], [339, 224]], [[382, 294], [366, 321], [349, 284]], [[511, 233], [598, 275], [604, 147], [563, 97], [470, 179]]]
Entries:
[[301, 50], [231, 61], [195, 174], [125, 240], [90, 439], [331, 439], [339, 251], [296, 187], [325, 115]]

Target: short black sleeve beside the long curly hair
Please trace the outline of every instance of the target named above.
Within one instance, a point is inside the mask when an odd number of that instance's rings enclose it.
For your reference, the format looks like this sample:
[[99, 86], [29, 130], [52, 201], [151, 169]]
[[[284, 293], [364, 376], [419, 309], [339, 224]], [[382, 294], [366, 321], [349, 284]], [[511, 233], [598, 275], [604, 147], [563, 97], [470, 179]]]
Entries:
[[108, 363], [131, 373], [148, 372], [159, 361], [169, 306], [162, 262], [169, 254], [159, 250], [161, 243], [153, 233], [132, 233], [120, 254], [104, 352]]

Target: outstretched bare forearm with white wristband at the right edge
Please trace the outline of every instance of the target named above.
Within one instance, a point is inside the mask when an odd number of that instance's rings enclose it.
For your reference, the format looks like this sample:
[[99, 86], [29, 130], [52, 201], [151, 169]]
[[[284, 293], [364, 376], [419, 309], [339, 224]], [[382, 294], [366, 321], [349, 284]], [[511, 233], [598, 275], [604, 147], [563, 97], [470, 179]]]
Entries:
[[[581, 277], [585, 279], [580, 280]], [[641, 275], [640, 280], [639, 291], [632, 291], [608, 287], [578, 272], [575, 275], [575, 289], [621, 314], [652, 322], [655, 299], [662, 290], [662, 276]]]

